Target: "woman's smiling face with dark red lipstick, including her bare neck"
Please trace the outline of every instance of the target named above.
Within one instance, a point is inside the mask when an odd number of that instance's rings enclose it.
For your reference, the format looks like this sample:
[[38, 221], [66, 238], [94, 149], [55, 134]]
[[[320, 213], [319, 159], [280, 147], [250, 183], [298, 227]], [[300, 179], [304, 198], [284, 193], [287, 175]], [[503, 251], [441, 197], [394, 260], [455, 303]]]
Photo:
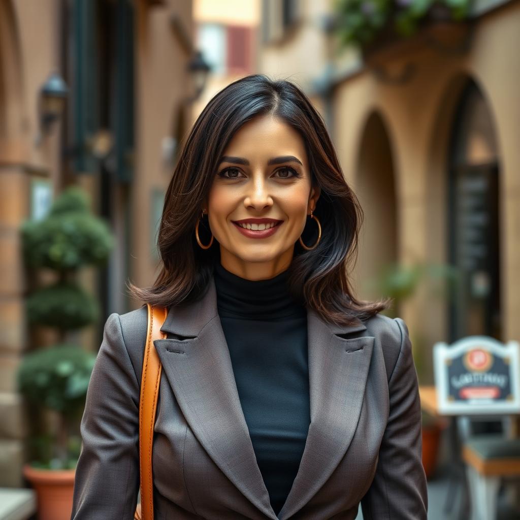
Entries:
[[204, 205], [220, 262], [249, 280], [291, 263], [319, 188], [311, 186], [302, 137], [271, 116], [245, 123], [229, 142]]

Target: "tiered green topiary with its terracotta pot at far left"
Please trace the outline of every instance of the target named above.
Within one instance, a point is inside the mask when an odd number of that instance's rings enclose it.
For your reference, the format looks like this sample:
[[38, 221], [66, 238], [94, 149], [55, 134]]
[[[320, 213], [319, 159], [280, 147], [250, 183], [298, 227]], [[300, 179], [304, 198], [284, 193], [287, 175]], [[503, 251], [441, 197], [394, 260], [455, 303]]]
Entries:
[[42, 431], [30, 439], [33, 460], [23, 470], [36, 490], [38, 520], [70, 519], [81, 449], [77, 431], [96, 359], [68, 339], [71, 331], [88, 326], [99, 315], [95, 299], [76, 281], [77, 272], [85, 265], [105, 263], [113, 246], [108, 225], [92, 215], [88, 205], [85, 192], [71, 187], [44, 219], [26, 220], [21, 227], [29, 271], [46, 268], [56, 277], [28, 296], [26, 313], [31, 327], [57, 329], [59, 342], [32, 348], [17, 374], [20, 392], [41, 419]]

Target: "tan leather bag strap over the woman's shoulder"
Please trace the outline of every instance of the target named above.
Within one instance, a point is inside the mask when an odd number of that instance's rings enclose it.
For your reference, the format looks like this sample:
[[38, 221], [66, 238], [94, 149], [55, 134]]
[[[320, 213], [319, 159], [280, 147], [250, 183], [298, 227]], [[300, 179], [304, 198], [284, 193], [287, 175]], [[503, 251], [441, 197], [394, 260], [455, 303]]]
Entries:
[[161, 381], [161, 360], [153, 345], [154, 340], [165, 339], [161, 327], [168, 314], [165, 307], [148, 307], [148, 333], [142, 362], [141, 396], [139, 401], [139, 471], [141, 479], [140, 515], [137, 506], [135, 518], [153, 520], [153, 480], [152, 444], [153, 424], [157, 410], [159, 383]]

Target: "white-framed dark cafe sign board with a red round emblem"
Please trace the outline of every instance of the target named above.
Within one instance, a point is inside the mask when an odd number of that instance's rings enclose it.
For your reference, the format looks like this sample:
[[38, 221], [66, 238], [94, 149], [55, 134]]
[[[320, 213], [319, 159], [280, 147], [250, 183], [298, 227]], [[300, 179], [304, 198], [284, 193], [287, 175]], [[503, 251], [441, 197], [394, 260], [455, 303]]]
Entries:
[[468, 336], [433, 347], [437, 406], [442, 414], [520, 413], [516, 341]]

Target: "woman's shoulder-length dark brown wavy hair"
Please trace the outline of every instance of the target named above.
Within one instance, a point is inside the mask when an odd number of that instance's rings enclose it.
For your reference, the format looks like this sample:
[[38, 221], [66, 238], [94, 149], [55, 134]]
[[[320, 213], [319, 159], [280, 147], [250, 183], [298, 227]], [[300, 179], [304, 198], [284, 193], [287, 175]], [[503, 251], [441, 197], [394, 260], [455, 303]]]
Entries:
[[[273, 81], [264, 74], [245, 76], [220, 90], [194, 123], [166, 191], [157, 241], [161, 270], [152, 287], [129, 283], [129, 294], [168, 307], [198, 300], [205, 293], [214, 265], [220, 261], [220, 248], [216, 240], [207, 250], [197, 244], [194, 228], [202, 203], [230, 139], [245, 122], [263, 114], [276, 116], [302, 136], [312, 183], [321, 188], [314, 214], [320, 220], [322, 237], [310, 251], [296, 242], [289, 267], [291, 292], [324, 320], [339, 325], [353, 324], [355, 318], [367, 319], [385, 309], [388, 298], [359, 301], [351, 288], [348, 268], [357, 260], [363, 214], [321, 116], [295, 84]], [[309, 228], [316, 229], [314, 220], [309, 222], [313, 224]], [[204, 232], [207, 243], [207, 216], [200, 226], [201, 235]], [[316, 240], [307, 230], [302, 238], [307, 244]]]

